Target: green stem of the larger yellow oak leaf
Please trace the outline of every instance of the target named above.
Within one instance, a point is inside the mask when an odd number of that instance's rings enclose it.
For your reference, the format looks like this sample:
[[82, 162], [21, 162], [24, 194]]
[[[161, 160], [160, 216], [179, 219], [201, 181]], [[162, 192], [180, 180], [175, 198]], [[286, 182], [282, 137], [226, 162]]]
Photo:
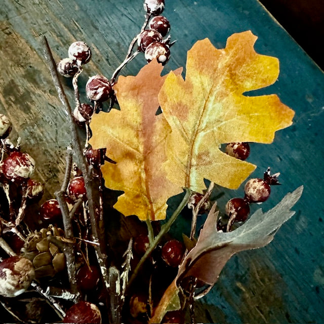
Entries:
[[191, 190], [189, 188], [185, 188], [185, 191], [186, 191], [186, 194], [183, 197], [180, 205], [174, 211], [174, 213], [169, 218], [169, 220], [165, 224], [163, 224], [161, 226], [161, 230], [155, 236], [152, 244], [150, 244], [149, 248], [147, 249], [147, 251], [145, 252], [145, 254], [143, 255], [143, 257], [141, 258], [141, 260], [139, 261], [139, 263], [137, 264], [136, 268], [134, 269], [133, 274], [132, 274], [132, 276], [131, 276], [131, 278], [130, 278], [130, 280], [128, 282], [128, 288], [131, 287], [133, 281], [135, 280], [136, 276], [138, 275], [138, 272], [141, 270], [144, 262], [147, 260], [147, 258], [151, 255], [151, 253], [153, 252], [153, 250], [156, 248], [156, 246], [158, 245], [158, 243], [161, 240], [161, 238], [163, 237], [163, 235], [166, 234], [170, 230], [171, 225], [173, 224], [173, 222], [177, 219], [177, 217], [179, 216], [179, 214], [181, 213], [181, 211], [187, 205], [188, 200], [189, 200], [190, 195], [191, 195]]

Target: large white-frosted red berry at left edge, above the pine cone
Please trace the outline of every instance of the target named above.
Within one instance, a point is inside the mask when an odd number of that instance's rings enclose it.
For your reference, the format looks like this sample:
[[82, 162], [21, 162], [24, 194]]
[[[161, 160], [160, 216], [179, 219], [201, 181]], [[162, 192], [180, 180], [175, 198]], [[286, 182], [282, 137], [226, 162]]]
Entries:
[[15, 182], [25, 182], [35, 170], [35, 161], [27, 153], [13, 151], [3, 161], [4, 176]]

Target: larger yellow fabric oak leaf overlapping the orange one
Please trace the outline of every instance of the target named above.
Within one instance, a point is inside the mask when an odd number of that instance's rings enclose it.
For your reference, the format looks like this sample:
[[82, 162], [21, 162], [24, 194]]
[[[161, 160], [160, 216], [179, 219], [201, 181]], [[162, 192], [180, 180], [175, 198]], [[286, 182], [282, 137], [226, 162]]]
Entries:
[[159, 93], [172, 128], [164, 164], [168, 178], [202, 192], [204, 178], [235, 189], [255, 166], [223, 153], [230, 142], [271, 143], [275, 131], [292, 124], [294, 111], [276, 95], [244, 93], [269, 86], [279, 74], [278, 59], [254, 50], [251, 31], [227, 39], [216, 49], [209, 39], [188, 51], [185, 80], [170, 73]]

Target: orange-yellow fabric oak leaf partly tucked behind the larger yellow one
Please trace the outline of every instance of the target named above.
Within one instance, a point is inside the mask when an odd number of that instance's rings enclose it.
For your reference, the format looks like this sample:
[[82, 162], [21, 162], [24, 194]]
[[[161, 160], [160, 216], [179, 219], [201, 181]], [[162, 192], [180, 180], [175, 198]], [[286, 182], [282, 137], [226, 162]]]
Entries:
[[114, 208], [141, 220], [165, 219], [168, 198], [182, 192], [161, 168], [166, 161], [166, 137], [171, 132], [164, 115], [155, 114], [158, 92], [166, 78], [160, 76], [162, 69], [152, 61], [136, 76], [119, 76], [114, 90], [120, 110], [100, 112], [90, 124], [90, 144], [106, 147], [107, 156], [116, 161], [101, 168], [105, 186], [125, 192]]

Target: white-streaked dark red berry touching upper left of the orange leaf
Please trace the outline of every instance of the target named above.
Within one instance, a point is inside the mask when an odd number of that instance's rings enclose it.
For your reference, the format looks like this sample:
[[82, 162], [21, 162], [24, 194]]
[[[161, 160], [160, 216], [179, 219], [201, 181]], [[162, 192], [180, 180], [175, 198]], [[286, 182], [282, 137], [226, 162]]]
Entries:
[[112, 96], [111, 84], [103, 75], [94, 75], [86, 84], [86, 93], [90, 100], [106, 101]]

